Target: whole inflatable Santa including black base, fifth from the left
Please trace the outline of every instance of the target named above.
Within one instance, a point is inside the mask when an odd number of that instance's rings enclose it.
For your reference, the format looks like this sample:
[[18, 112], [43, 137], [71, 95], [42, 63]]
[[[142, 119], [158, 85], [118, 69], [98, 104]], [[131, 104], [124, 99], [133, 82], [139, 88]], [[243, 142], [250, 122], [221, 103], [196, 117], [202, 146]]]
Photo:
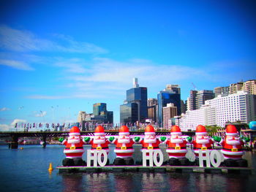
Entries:
[[191, 141], [191, 137], [182, 138], [181, 128], [173, 126], [170, 129], [170, 139], [167, 139], [167, 150], [169, 155], [169, 164], [172, 166], [188, 166], [189, 160], [185, 157], [187, 153], [187, 142]]

